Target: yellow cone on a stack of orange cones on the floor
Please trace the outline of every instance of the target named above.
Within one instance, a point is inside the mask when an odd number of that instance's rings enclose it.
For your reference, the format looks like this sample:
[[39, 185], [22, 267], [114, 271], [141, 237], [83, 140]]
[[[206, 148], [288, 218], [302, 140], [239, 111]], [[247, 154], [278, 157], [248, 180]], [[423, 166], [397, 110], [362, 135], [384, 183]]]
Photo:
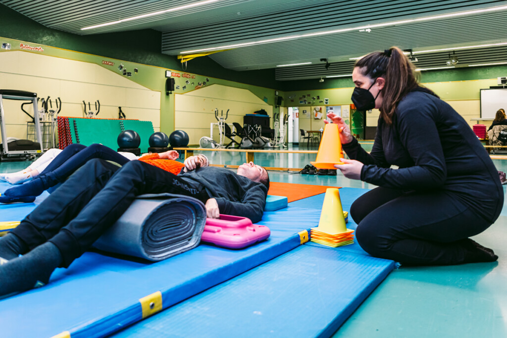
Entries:
[[328, 188], [325, 191], [318, 227], [310, 230], [310, 240], [336, 248], [354, 243], [353, 232], [347, 229], [338, 189]]

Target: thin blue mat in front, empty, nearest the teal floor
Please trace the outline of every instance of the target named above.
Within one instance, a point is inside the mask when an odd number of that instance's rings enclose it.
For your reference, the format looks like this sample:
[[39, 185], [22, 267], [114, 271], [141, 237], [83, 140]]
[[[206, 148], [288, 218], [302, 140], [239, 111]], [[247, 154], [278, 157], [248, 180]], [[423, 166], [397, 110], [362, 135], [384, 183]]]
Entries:
[[329, 337], [392, 269], [303, 245], [114, 336]]

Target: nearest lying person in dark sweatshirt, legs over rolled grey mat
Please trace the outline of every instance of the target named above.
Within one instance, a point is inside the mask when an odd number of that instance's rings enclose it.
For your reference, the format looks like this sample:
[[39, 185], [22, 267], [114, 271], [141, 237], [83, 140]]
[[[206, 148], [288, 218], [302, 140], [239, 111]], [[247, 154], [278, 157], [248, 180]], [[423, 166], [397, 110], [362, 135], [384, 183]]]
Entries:
[[0, 295], [48, 283], [57, 267], [81, 256], [141, 194], [191, 196], [212, 217], [220, 212], [261, 220], [269, 187], [264, 168], [250, 162], [233, 172], [202, 166], [202, 156], [186, 162], [187, 172], [174, 175], [142, 161], [122, 167], [88, 161], [0, 238]]

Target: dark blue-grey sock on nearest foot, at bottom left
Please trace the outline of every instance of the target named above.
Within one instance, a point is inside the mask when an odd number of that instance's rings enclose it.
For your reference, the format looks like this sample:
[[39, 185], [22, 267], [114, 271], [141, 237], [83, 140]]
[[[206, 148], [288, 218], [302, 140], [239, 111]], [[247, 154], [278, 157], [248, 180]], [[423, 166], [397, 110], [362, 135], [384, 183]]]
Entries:
[[47, 284], [61, 261], [60, 250], [53, 243], [46, 242], [26, 255], [0, 265], [0, 296]]

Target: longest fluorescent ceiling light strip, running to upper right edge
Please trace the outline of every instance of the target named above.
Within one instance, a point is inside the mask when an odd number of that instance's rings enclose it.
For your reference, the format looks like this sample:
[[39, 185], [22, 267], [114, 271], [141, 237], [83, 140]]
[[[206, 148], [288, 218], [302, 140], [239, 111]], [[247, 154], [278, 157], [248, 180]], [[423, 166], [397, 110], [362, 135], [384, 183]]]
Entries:
[[354, 30], [361, 30], [361, 29], [368, 29], [368, 28], [371, 29], [371, 28], [376, 28], [376, 27], [401, 25], [401, 24], [412, 23], [412, 22], [424, 22], [424, 21], [429, 21], [429, 20], [438, 20], [438, 19], [445, 19], [445, 18], [466, 16], [466, 15], [479, 14], [479, 13], [495, 12], [495, 11], [501, 11], [501, 10], [505, 10], [505, 9], [507, 9], [507, 6], [499, 6], [499, 7], [478, 9], [478, 10], [473, 10], [473, 11], [465, 11], [465, 12], [456, 12], [456, 13], [449, 13], [449, 14], [442, 14], [442, 15], [426, 16], [426, 17], [415, 18], [415, 19], [407, 19], [407, 20], [399, 20], [399, 21], [376, 23], [376, 24], [359, 26], [359, 27], [341, 28], [341, 29], [326, 30], [326, 31], [307, 33], [307, 34], [301, 34], [301, 35], [289, 35], [289, 36], [275, 37], [273, 39], [253, 41], [253, 42], [245, 42], [245, 43], [241, 43], [241, 44], [234, 44], [234, 45], [225, 45], [225, 46], [219, 46], [219, 47], [195, 49], [195, 50], [191, 50], [191, 51], [180, 52], [179, 54], [193, 54], [193, 53], [198, 53], [198, 52], [208, 52], [208, 51], [221, 50], [221, 49], [231, 49], [231, 48], [238, 48], [238, 47], [262, 45], [262, 44], [267, 44], [267, 43], [271, 43], [271, 42], [300, 39], [301, 37], [321, 36], [321, 35], [343, 33], [343, 32], [354, 31]]

